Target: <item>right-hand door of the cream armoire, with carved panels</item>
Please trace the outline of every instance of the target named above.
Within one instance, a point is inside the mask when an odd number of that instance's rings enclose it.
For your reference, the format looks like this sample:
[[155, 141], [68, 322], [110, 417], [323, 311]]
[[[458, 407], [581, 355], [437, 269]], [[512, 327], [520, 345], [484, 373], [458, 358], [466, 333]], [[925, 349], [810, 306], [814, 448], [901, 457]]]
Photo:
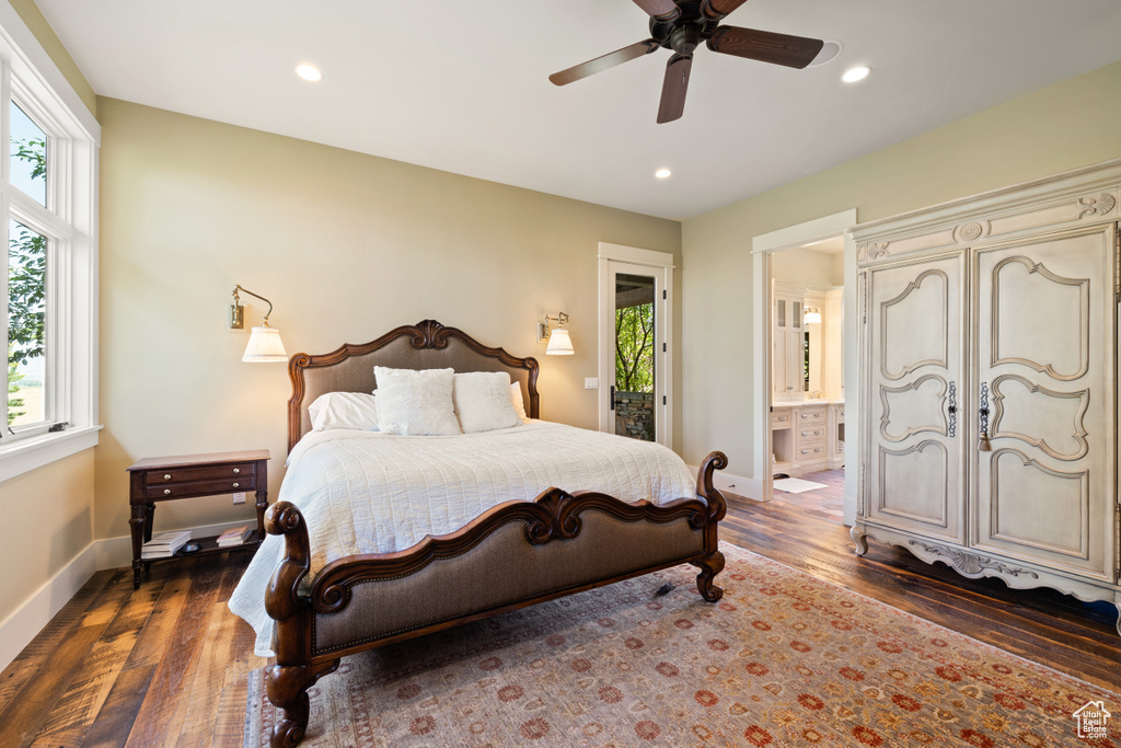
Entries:
[[1113, 231], [1100, 225], [978, 253], [973, 391], [988, 394], [991, 451], [976, 451], [970, 434], [974, 545], [1109, 580]]

